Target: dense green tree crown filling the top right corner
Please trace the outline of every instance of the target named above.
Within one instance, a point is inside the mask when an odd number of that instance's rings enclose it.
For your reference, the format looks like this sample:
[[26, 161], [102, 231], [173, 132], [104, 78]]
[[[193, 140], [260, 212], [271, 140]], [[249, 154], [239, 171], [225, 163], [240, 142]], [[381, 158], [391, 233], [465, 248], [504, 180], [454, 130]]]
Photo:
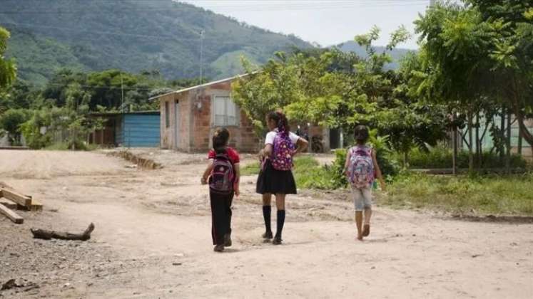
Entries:
[[478, 113], [493, 115], [494, 107], [511, 110], [524, 140], [533, 146], [533, 135], [524, 125], [533, 109], [531, 3], [467, 4], [437, 4], [415, 22], [422, 63], [412, 88], [433, 103], [443, 103], [450, 113], [466, 115], [470, 128]]

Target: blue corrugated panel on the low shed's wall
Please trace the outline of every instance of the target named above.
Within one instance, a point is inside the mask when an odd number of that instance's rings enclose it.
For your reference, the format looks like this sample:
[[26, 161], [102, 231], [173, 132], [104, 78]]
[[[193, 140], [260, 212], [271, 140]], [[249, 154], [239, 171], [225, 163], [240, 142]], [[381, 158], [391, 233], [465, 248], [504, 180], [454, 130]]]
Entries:
[[126, 114], [123, 120], [123, 146], [125, 147], [158, 147], [159, 115]]

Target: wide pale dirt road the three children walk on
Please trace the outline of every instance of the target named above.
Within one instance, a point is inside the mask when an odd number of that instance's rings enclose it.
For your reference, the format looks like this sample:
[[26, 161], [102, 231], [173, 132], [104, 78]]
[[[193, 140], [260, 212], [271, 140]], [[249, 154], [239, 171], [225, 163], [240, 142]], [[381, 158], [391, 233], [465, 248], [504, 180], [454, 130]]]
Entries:
[[[98, 152], [0, 151], [0, 181], [42, 213], [0, 217], [0, 298], [531, 298], [533, 225], [456, 221], [375, 208], [354, 240], [338, 193], [290, 196], [282, 246], [263, 243], [254, 177], [235, 199], [233, 246], [214, 253], [197, 156], [155, 151], [141, 170]], [[275, 217], [274, 217], [275, 218]], [[91, 241], [36, 241], [29, 228], [81, 231]], [[275, 226], [275, 219], [273, 219]]]

